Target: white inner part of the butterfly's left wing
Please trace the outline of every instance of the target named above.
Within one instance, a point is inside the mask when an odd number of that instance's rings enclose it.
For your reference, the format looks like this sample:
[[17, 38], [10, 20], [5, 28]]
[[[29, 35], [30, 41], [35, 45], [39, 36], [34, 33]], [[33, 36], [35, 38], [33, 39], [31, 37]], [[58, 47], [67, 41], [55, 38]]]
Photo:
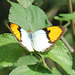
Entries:
[[20, 42], [21, 45], [27, 48], [27, 50], [29, 51], [34, 51], [31, 45], [31, 39], [28, 37], [28, 33], [23, 28], [21, 28], [20, 31], [21, 31], [21, 40], [22, 40], [22, 42]]

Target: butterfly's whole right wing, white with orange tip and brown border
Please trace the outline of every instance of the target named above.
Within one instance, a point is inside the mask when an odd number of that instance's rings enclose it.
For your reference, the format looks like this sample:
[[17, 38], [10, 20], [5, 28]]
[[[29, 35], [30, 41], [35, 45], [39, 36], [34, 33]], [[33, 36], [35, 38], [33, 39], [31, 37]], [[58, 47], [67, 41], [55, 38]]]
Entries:
[[52, 48], [65, 32], [66, 28], [63, 26], [52, 26], [36, 31], [32, 35], [34, 49], [44, 52]]

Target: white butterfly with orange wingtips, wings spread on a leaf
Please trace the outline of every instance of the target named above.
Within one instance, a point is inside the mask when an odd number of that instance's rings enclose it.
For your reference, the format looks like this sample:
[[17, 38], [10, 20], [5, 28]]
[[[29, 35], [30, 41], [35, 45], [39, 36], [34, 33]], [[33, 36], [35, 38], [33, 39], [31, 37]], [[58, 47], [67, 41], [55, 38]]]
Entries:
[[18, 42], [30, 52], [45, 52], [49, 50], [66, 32], [66, 28], [63, 26], [50, 26], [34, 33], [26, 32], [22, 27], [12, 22], [8, 22], [7, 26]]

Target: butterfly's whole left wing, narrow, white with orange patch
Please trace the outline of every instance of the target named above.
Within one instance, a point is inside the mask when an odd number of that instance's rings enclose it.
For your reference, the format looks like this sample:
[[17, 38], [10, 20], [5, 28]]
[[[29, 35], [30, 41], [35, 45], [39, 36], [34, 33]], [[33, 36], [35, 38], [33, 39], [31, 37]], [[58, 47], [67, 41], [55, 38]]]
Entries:
[[8, 23], [8, 28], [15, 35], [18, 42], [27, 50], [34, 51], [31, 45], [31, 40], [28, 37], [28, 33], [20, 26], [14, 23]]

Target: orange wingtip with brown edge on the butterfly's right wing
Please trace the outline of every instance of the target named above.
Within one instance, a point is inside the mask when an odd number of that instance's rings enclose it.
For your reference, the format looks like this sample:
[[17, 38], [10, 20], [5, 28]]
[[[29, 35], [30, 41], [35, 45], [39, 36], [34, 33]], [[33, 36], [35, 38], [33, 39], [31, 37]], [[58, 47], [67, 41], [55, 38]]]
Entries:
[[56, 42], [62, 35], [65, 34], [67, 31], [67, 28], [63, 26], [52, 26], [52, 27], [47, 27], [48, 37], [51, 42]]

